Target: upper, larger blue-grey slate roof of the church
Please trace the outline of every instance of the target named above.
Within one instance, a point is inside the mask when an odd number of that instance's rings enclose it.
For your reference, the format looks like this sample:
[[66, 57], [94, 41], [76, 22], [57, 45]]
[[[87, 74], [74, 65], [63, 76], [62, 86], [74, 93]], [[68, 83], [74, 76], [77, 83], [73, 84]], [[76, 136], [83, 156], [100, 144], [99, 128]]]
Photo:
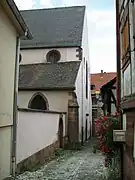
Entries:
[[82, 44], [85, 6], [21, 11], [33, 35], [21, 48], [78, 47]]

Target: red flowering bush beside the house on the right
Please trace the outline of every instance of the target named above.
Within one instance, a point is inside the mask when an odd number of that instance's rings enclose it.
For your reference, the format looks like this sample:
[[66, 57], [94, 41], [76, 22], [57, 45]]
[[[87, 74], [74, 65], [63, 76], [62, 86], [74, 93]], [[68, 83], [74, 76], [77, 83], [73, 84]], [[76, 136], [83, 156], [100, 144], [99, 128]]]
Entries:
[[95, 121], [95, 131], [98, 138], [98, 148], [105, 155], [105, 166], [111, 163], [111, 159], [119, 150], [117, 143], [113, 142], [113, 130], [119, 129], [118, 114], [102, 116]]

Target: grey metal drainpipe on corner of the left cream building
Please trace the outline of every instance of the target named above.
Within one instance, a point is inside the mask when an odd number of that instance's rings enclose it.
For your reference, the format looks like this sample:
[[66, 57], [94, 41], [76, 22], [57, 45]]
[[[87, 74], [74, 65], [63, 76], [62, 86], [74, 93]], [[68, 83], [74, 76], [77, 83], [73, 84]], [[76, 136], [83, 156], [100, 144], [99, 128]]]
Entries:
[[17, 138], [17, 96], [18, 96], [18, 63], [20, 51], [20, 38], [16, 39], [16, 58], [14, 73], [14, 103], [13, 103], [13, 134], [12, 134], [12, 176], [16, 175], [16, 138]]

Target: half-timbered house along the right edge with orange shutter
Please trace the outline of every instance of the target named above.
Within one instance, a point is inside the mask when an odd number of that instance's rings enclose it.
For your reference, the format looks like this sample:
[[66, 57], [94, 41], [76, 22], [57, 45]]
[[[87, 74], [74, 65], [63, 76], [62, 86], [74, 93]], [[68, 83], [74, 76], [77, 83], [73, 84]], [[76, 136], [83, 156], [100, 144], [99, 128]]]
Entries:
[[[126, 131], [123, 145], [123, 179], [135, 179], [135, 4], [116, 1], [117, 27], [117, 109]], [[120, 86], [121, 84], [121, 86]], [[120, 96], [121, 95], [121, 96]]]

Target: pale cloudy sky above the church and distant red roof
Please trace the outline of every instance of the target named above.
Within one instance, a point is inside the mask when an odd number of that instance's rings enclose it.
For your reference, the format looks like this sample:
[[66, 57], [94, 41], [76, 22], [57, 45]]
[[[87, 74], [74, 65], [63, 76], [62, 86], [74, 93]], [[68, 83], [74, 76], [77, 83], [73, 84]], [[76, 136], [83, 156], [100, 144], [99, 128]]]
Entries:
[[91, 72], [116, 71], [114, 0], [15, 0], [20, 10], [86, 5]]

